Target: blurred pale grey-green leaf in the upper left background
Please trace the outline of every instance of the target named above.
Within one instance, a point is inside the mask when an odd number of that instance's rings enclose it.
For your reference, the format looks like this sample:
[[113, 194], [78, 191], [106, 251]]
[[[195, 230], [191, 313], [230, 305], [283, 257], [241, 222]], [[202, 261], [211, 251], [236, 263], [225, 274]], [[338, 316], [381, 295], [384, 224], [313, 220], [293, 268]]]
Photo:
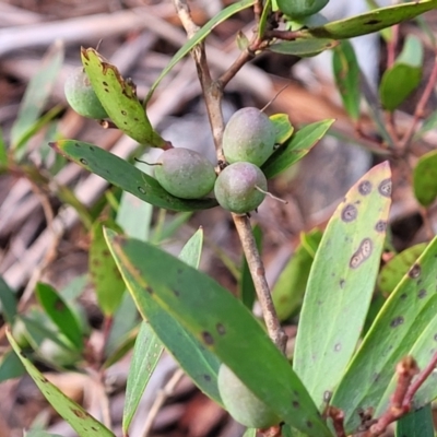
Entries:
[[63, 45], [55, 43], [45, 55], [42, 66], [27, 85], [24, 97], [20, 104], [19, 115], [11, 130], [11, 149], [24, 145], [22, 139], [32, 129], [43, 113], [56, 78], [63, 62]]

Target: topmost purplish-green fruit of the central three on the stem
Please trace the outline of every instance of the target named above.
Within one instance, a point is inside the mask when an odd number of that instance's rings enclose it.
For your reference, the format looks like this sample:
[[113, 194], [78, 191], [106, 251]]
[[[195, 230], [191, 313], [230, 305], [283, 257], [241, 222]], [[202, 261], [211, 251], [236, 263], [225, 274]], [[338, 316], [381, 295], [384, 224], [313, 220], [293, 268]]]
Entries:
[[228, 163], [240, 161], [261, 166], [273, 153], [275, 128], [258, 108], [237, 110], [223, 132], [223, 154]]

